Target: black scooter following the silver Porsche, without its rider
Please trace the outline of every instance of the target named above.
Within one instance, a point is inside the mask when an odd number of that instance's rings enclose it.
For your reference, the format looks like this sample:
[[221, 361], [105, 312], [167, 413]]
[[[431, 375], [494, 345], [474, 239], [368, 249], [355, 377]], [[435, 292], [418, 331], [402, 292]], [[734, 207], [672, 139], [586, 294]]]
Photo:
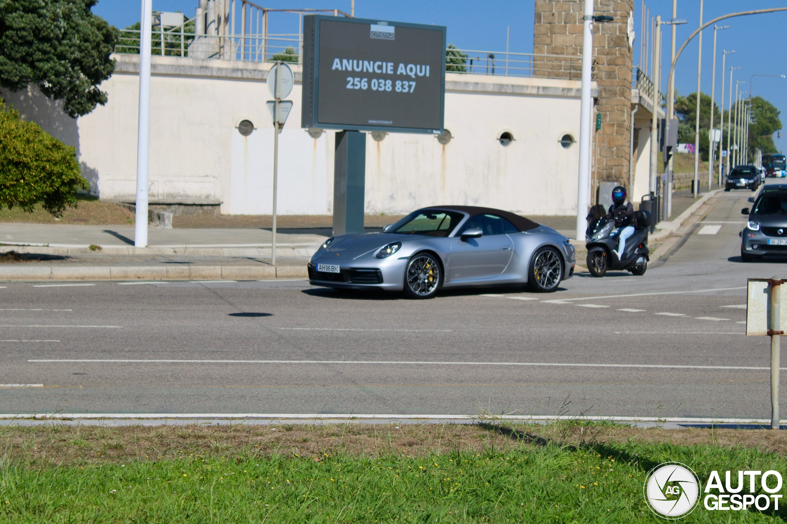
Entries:
[[630, 271], [632, 275], [645, 275], [650, 260], [648, 250], [648, 227], [651, 216], [647, 211], [634, 212], [637, 227], [634, 234], [626, 239], [623, 257], [618, 258], [618, 236], [611, 236], [615, 231], [615, 219], [606, 218], [604, 206], [593, 206], [588, 216], [588, 229], [585, 241], [588, 250], [588, 271], [594, 277], [603, 277], [607, 270]]

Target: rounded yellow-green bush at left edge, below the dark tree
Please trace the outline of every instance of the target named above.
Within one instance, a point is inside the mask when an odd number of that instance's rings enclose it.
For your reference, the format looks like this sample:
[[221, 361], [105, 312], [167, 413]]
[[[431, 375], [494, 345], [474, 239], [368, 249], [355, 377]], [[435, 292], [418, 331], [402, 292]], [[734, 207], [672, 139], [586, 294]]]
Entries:
[[75, 149], [21, 120], [0, 98], [0, 209], [32, 212], [40, 204], [61, 216], [66, 207], [76, 207], [76, 193], [87, 190]]

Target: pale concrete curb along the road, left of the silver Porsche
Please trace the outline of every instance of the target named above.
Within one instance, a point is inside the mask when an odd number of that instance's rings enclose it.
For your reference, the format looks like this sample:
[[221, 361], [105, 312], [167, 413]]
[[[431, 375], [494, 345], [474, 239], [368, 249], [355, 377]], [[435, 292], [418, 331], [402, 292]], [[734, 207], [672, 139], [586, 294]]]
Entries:
[[309, 277], [302, 266], [30, 266], [0, 265], [0, 280], [194, 280]]

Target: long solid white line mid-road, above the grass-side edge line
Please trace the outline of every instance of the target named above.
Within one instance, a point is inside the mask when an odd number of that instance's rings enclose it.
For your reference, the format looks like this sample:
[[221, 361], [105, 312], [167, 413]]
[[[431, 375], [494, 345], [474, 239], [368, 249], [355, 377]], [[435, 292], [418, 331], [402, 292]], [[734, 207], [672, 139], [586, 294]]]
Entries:
[[[535, 367], [638, 367], [658, 369], [770, 370], [754, 366], [688, 366], [680, 364], [562, 363], [562, 362], [432, 362], [426, 360], [135, 360], [135, 359], [37, 359], [31, 363], [281, 363], [281, 364], [360, 364], [416, 366], [535, 366]], [[787, 369], [782, 367], [781, 369]]]

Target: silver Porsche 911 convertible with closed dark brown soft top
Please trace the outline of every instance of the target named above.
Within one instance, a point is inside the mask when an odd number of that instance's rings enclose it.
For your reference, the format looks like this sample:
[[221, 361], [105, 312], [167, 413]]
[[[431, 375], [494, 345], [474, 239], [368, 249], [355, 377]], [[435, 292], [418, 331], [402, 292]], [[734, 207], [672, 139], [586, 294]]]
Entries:
[[414, 211], [382, 233], [328, 238], [309, 262], [309, 282], [412, 298], [491, 284], [548, 292], [574, 274], [574, 253], [562, 234], [512, 212], [441, 205]]

